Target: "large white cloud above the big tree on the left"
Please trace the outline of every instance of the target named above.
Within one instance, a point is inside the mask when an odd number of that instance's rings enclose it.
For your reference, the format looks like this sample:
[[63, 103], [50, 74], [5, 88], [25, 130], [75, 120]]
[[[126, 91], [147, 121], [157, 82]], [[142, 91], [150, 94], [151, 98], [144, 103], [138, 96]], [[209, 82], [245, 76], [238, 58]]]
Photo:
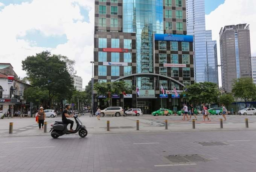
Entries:
[[[1, 6], [1, 3], [0, 3]], [[83, 22], [80, 8], [89, 11], [89, 23]], [[24, 77], [21, 61], [43, 50], [76, 60], [75, 69], [83, 78], [83, 87], [91, 78], [93, 60], [94, 0], [33, 0], [31, 3], [8, 5], [0, 11], [0, 62], [12, 63]], [[17, 39], [27, 30], [40, 30], [46, 36], [66, 34], [67, 42], [56, 48], [31, 47], [31, 42]]]

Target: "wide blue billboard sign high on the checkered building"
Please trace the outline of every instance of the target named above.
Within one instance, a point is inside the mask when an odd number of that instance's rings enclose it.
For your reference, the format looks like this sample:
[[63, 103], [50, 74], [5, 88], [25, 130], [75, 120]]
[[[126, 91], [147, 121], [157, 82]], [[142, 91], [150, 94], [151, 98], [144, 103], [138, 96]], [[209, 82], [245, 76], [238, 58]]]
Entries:
[[192, 35], [155, 34], [155, 41], [193, 42]]

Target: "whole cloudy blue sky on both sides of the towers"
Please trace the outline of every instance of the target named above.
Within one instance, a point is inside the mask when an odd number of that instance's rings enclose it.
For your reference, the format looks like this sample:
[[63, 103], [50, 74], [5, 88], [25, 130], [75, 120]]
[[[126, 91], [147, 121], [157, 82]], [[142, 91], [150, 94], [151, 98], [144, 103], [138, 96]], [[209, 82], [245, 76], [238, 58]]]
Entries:
[[[250, 24], [251, 54], [256, 56], [255, 7], [256, 0], [205, 0], [206, 29], [217, 40], [219, 63], [219, 30], [230, 24]], [[20, 77], [26, 76], [22, 60], [48, 50], [76, 61], [85, 88], [93, 33], [94, 0], [0, 0], [0, 62], [11, 63]]]

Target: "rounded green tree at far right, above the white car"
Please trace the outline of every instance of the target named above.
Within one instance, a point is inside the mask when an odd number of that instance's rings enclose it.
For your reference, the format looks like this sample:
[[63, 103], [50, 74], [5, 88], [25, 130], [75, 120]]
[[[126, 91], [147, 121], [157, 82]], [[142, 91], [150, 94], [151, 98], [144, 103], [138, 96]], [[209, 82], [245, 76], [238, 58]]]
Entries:
[[253, 99], [256, 94], [256, 86], [252, 78], [238, 78], [234, 80], [232, 93], [236, 98], [242, 98], [247, 107], [247, 101]]

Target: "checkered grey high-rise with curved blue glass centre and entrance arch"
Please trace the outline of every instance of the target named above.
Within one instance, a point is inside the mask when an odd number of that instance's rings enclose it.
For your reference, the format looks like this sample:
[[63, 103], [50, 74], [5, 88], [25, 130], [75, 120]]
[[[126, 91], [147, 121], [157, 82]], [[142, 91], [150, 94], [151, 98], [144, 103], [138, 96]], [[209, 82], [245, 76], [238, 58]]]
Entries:
[[[139, 88], [124, 103], [122, 94], [111, 95], [112, 106], [177, 110], [183, 99], [174, 87], [194, 83], [193, 36], [186, 34], [186, 0], [95, 0], [94, 83], [123, 80]], [[107, 106], [107, 96], [94, 91], [94, 110]]]

